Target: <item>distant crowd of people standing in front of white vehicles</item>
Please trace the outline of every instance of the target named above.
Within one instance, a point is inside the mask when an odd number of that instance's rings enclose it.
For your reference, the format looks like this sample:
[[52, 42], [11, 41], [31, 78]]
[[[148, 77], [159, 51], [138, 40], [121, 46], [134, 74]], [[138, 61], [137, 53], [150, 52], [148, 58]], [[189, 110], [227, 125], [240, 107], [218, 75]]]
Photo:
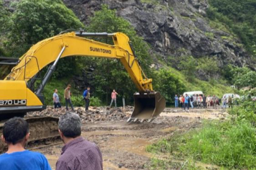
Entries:
[[189, 111], [189, 108], [217, 108], [217, 105], [221, 105], [221, 108], [232, 107], [233, 99], [231, 96], [223, 96], [222, 99], [219, 99], [217, 96], [206, 96], [204, 94], [194, 94], [189, 96], [188, 94], [185, 94], [185, 96], [176, 94], [174, 97], [175, 101], [175, 108], [182, 108], [184, 111]]

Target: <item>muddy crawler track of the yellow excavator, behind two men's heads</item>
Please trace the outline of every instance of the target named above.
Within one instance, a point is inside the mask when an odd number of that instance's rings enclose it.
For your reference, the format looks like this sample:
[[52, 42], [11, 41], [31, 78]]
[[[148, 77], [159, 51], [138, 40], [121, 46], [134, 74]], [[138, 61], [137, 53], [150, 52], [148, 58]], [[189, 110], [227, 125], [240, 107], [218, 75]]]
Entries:
[[[30, 127], [30, 139], [26, 149], [44, 147], [45, 145], [54, 145], [61, 142], [58, 132], [59, 118], [44, 116], [44, 117], [26, 117]], [[3, 134], [3, 125], [5, 121], [0, 122], [0, 134]], [[7, 145], [0, 141], [0, 153], [7, 150]]]

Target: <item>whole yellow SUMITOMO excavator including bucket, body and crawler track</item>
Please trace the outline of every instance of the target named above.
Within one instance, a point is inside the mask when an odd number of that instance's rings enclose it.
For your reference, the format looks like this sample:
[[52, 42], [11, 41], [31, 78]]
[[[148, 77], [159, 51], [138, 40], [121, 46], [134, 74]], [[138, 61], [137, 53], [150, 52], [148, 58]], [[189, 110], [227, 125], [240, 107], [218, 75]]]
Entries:
[[[90, 37], [112, 37], [113, 45], [97, 42]], [[141, 69], [129, 37], [123, 33], [84, 33], [70, 32], [47, 38], [33, 45], [20, 59], [0, 59], [0, 69], [11, 72], [0, 81], [0, 133], [3, 124], [13, 116], [24, 116], [28, 111], [41, 111], [46, 108], [42, 91], [49, 81], [59, 59], [71, 56], [104, 57], [119, 59], [129, 73], [139, 93], [134, 94], [134, 111], [127, 120], [150, 122], [165, 109], [165, 98], [153, 91], [152, 79], [148, 79]], [[40, 74], [50, 65], [45, 76]], [[3, 77], [3, 71], [1, 71]], [[41, 81], [35, 88], [35, 82]], [[30, 125], [30, 142], [49, 142], [59, 137], [58, 118], [49, 116], [26, 117]], [[0, 152], [4, 144], [0, 142]]]

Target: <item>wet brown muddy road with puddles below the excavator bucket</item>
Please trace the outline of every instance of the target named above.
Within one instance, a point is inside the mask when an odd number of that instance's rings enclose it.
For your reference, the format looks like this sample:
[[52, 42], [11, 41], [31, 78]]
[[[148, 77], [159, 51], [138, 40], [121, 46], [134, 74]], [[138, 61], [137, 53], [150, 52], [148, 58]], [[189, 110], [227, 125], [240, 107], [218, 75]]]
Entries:
[[[93, 110], [93, 108], [91, 109]], [[225, 119], [225, 110], [190, 110], [190, 113], [166, 108], [153, 122], [126, 123], [124, 120], [107, 120], [83, 123], [82, 136], [95, 142], [103, 155], [104, 169], [148, 169], [153, 154], [146, 146], [174, 133], [187, 132], [199, 127], [202, 119]], [[124, 111], [129, 115], [131, 110]], [[83, 117], [83, 116], [82, 116]], [[83, 118], [82, 118], [83, 119]], [[53, 169], [63, 144], [36, 149], [45, 154]]]

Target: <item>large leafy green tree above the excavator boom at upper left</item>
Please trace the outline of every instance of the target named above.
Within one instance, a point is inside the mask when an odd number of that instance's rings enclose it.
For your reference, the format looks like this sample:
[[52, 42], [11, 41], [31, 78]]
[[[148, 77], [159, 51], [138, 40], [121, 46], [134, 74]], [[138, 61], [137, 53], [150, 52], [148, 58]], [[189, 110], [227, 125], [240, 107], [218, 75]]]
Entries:
[[[67, 9], [61, 0], [21, 0], [12, 5], [16, 10], [9, 17], [6, 42], [12, 57], [20, 57], [33, 44], [61, 31], [84, 27], [73, 11]], [[69, 76], [75, 72], [75, 68], [75, 59], [61, 59], [54, 76]]]

